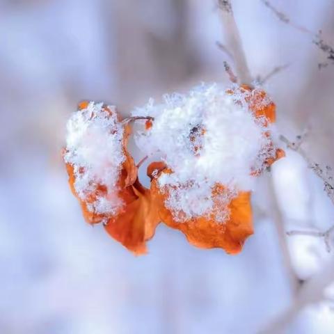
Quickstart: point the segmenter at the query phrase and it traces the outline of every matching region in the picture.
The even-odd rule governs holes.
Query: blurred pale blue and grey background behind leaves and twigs
[[[310,35],[260,0],[232,3],[253,76],[289,65],[264,86],[278,132],[294,139],[310,127],[303,147],[334,167],[334,65],[319,70],[326,54]],[[333,1],[272,3],[334,45]],[[233,63],[216,46],[224,39],[213,0],[0,0],[1,334],[257,333],[287,308],[266,176],[241,254],[199,250],[159,225],[149,254],[134,257],[84,223],[61,161],[65,122],[81,100],[116,104],[126,116],[150,97],[228,84],[223,61]],[[287,150],[273,179],[285,230],[333,225],[323,184],[298,154]],[[320,238],[285,239],[299,280],[333,256]],[[287,333],[334,333],[333,310],[328,292]]]

